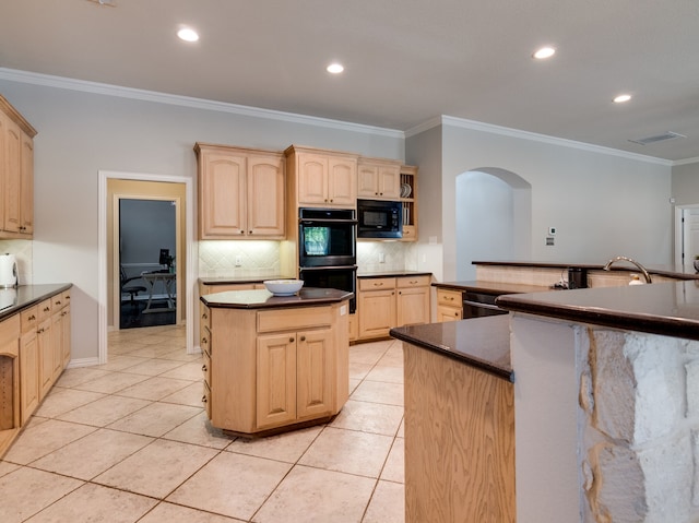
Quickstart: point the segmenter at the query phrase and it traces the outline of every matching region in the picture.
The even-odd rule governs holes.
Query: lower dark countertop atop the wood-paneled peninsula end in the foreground
[[[509,316],[391,329],[391,336],[514,381]]]

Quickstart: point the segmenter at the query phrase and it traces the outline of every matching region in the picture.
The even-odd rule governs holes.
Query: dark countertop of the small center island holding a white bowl
[[[274,296],[265,289],[227,290],[208,294],[201,301],[222,309],[270,309],[280,307],[310,307],[352,298],[352,293],[334,288],[304,287],[293,296]]]

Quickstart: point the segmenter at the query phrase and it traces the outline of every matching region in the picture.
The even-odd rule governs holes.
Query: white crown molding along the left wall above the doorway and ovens
[[[0,80],[9,80],[12,82],[21,82],[45,87],[64,88],[70,91],[81,91],[84,93],[99,94],[105,96],[118,96],[121,98],[138,99],[142,102],[153,102],[157,104],[169,104],[181,107],[190,107],[193,109],[214,110],[218,112],[229,112],[234,115],[247,116],[252,118],[264,118],[268,120],[286,121],[291,123],[300,123],[306,126],[324,127],[341,131],[360,132],[363,134],[376,134],[386,138],[403,139],[403,131],[395,129],[386,129],[374,126],[365,126],[362,123],[353,123],[341,120],[331,120],[329,118],[319,118],[306,115],[297,115],[294,112],[284,112],[272,109],[262,109],[259,107],[250,107],[237,104],[228,104],[225,102],[214,102],[203,98],[194,98],[191,96],[173,95],[159,93],[156,91],[145,91],[132,87],[123,87],[119,85],[105,84],[99,82],[90,82],[86,80],[75,80],[63,76],[54,76],[50,74],[34,73],[29,71],[21,71],[16,69],[0,68]]]

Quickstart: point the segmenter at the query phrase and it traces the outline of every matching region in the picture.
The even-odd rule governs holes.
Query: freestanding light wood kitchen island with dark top
[[[202,400],[212,425],[260,437],[336,415],[348,396],[351,297],[328,288],[202,296]]]

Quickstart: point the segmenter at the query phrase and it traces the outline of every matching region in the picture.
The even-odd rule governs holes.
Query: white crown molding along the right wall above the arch
[[[558,145],[562,147],[589,151],[591,153],[596,153],[596,154],[606,154],[608,156],[619,156],[623,158],[633,159],[637,162],[645,162],[649,164],[664,165],[668,167],[673,165],[677,165],[677,162],[673,162],[670,159],[656,158],[653,156],[645,156],[643,154],[637,154],[637,153],[628,153],[626,151],[620,151],[617,148],[603,147],[601,145],[592,145],[590,143],[576,142],[574,140],[549,136],[547,134],[538,134],[536,132],[530,132],[530,131],[521,131],[519,129],[494,126],[491,123],[484,123],[482,121],[475,121],[475,120],[466,120],[464,118],[457,118],[453,116],[446,116],[446,115],[441,115],[439,117],[433,118],[430,120],[427,120],[424,123],[420,123],[419,126],[408,129],[407,131],[405,131],[405,136],[406,138],[413,136],[415,134],[425,132],[438,126],[459,127],[459,128],[469,129],[472,131],[487,132],[490,134],[499,134],[502,136],[517,138],[520,140],[529,140],[531,142],[547,143],[549,145]],[[692,163],[692,162],[689,161],[688,163]]]

